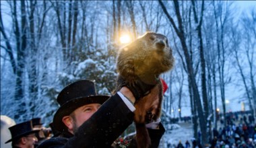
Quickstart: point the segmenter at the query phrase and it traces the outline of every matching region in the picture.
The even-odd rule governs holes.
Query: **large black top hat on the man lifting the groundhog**
[[[109,96],[97,95],[94,82],[90,80],[80,80],[67,85],[57,97],[60,107],[53,117],[53,126],[58,131],[64,131],[67,127],[62,122],[63,116],[68,116],[86,104],[103,104],[108,98]]]

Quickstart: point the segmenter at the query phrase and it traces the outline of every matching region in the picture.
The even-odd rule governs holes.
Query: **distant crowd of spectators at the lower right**
[[[177,148],[254,148],[256,147],[256,123],[251,112],[229,112],[226,115],[226,126],[223,116],[219,118],[220,128],[212,129],[212,139],[205,146],[200,143],[201,134],[198,133],[198,139],[192,138],[177,145],[168,145],[168,147]]]

